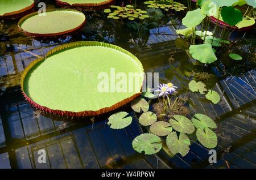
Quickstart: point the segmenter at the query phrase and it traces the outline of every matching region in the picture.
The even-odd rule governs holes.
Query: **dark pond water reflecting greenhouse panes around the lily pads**
[[[47,8],[58,8],[54,1],[43,2]],[[187,1],[181,2],[187,6]],[[136,5],[146,9],[143,1]],[[149,11],[151,18],[143,22],[111,20],[102,10],[84,12],[87,23],[76,35],[40,40],[20,32],[18,20],[2,20],[0,168],[256,168],[255,28],[248,33],[230,32],[230,46],[218,49],[220,59],[204,66],[189,57],[188,42],[175,32],[183,28],[185,12]],[[134,117],[123,130],[106,125],[110,114],[71,119],[32,109],[20,93],[24,68],[57,45],[81,40],[108,42],[128,50],[146,72],[159,72],[161,83],[174,83],[178,93],[189,98],[188,114],[203,113],[216,119],[217,164],[209,165],[208,149],[195,137],[191,137],[191,151],[185,157],[170,157],[164,150],[151,156],[135,152],[131,142],[146,130],[139,126],[130,105],[121,108]],[[231,61],[231,50],[242,55],[243,61]],[[221,101],[213,105],[190,93],[188,83],[193,77],[220,93]],[[46,164],[38,163],[38,149],[47,152]]]

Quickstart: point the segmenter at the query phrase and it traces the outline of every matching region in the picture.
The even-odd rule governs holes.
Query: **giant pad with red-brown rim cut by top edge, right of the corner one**
[[[59,6],[78,6],[90,8],[105,8],[114,2],[114,0],[55,0]]]

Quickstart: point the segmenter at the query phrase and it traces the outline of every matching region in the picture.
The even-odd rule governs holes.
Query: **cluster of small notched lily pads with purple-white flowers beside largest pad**
[[[202,93],[207,91],[203,83],[193,83],[196,82],[190,83],[190,85],[195,86],[193,88],[191,87],[191,91]],[[168,89],[167,84],[165,84],[159,86],[158,92],[160,92],[159,96],[161,95],[163,98],[167,98],[168,95],[175,92],[175,87],[172,84],[171,89]],[[159,97],[151,91],[143,93],[142,96],[148,99]],[[207,98],[216,104],[216,97],[212,98],[212,96],[215,96],[214,91],[209,91]],[[160,149],[167,147],[167,151],[171,155],[180,153],[181,156],[185,156],[189,152],[189,145],[191,145],[188,136],[192,135],[193,132],[195,132],[197,140],[204,147],[211,149],[217,146],[217,135],[212,130],[217,126],[207,115],[195,114],[192,119],[188,119],[184,115],[172,115],[166,121],[160,121],[155,113],[148,111],[149,104],[143,97],[136,98],[132,101],[131,108],[136,114],[139,113],[138,122],[148,130],[148,133],[138,135],[132,142],[133,148],[139,153],[144,152],[146,155],[152,155],[158,153]],[[133,121],[133,117],[126,112],[118,112],[112,114],[108,120],[110,128],[119,129],[129,126]],[[166,151],[166,149],[164,150]]]

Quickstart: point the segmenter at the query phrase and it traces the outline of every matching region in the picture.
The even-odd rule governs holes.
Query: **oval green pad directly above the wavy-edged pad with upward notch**
[[[193,123],[184,115],[174,115],[173,118],[169,122],[176,131],[185,134],[191,134],[195,131]]]

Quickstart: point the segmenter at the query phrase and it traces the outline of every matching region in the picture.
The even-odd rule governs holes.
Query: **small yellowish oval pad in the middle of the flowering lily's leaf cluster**
[[[150,132],[158,136],[167,136],[172,131],[170,123],[157,121],[150,126]]]

